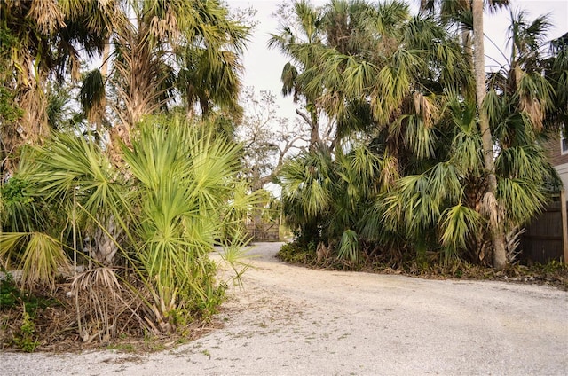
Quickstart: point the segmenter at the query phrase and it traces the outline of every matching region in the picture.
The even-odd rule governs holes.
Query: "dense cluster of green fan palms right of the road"
[[[546,20],[511,19],[508,65],[488,77],[480,107],[462,35],[404,3],[332,1],[316,10],[296,2],[282,22],[272,43],[297,67],[292,86],[283,74],[284,90],[308,98],[335,135],[283,168],[298,242],[350,262],[362,250],[395,262],[433,253],[437,262],[491,264],[489,224],[499,223],[512,261],[520,227],[559,186],[543,145],[565,108],[553,101],[560,80],[544,67],[564,58],[543,54]],[[485,194],[479,111],[493,135],[496,200]]]

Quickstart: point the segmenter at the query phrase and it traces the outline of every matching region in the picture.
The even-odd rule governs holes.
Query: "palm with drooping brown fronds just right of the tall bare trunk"
[[[492,124],[494,142],[499,146],[495,160],[497,199],[501,204],[504,194],[510,196],[509,188],[514,180],[517,202],[522,201],[525,205],[525,216],[515,208],[505,211],[503,223],[505,226],[508,222],[515,223],[514,228],[540,211],[548,200],[550,190],[547,187],[556,184],[556,173],[544,161],[540,145],[550,131],[557,131],[556,121],[562,117],[564,108],[562,101],[554,101],[554,87],[543,74],[550,59],[555,59],[545,59],[547,18],[540,16],[529,21],[525,12],[511,12],[510,22],[509,61],[499,71],[488,75],[489,90],[484,110]],[[540,168],[540,173],[533,171],[535,167]],[[525,175],[526,172],[530,175]],[[525,178],[538,186],[530,188],[531,192],[526,191],[528,182],[523,180]],[[525,191],[521,187],[525,187]],[[520,192],[528,197],[523,197]],[[537,192],[546,196],[546,200],[531,197]]]

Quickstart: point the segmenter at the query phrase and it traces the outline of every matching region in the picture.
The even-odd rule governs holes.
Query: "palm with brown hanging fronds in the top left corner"
[[[2,129],[3,159],[13,159],[20,145],[36,145],[49,135],[48,81],[55,77],[60,82],[66,75],[78,80],[79,51],[91,56],[103,50],[99,16],[110,12],[114,2],[92,4],[54,0],[0,4],[0,29],[12,41],[12,53],[3,56],[4,73],[10,72],[4,85],[21,109],[19,119]]]

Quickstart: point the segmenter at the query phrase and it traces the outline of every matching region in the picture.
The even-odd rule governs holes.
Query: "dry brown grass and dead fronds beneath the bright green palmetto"
[[[107,274],[106,272],[103,272]],[[101,273],[99,273],[101,274]],[[101,274],[102,275],[102,274]],[[75,281],[75,287],[81,281],[93,276],[83,276]],[[108,277],[108,276],[106,276]],[[104,279],[104,278],[103,278]],[[111,282],[112,279],[108,280]],[[71,284],[59,284],[53,294],[45,294],[36,299],[39,302],[33,308],[32,318],[36,327],[35,336],[38,339],[36,351],[45,352],[81,352],[90,349],[115,349],[122,352],[145,353],[171,349],[175,346],[193,341],[209,333],[212,328],[220,325],[216,322],[193,320],[184,327],[177,328],[176,333],[155,335],[141,329],[140,325],[132,325],[136,318],[129,309],[124,309],[124,299],[129,294],[124,290],[114,290],[116,298],[109,298],[108,286],[101,286],[101,278],[97,278],[98,294],[88,296],[83,290],[78,298],[79,314],[83,322],[83,334],[88,334],[91,341],[84,341],[79,332],[77,322],[77,303],[72,292]],[[92,289],[91,286],[86,286]],[[120,297],[119,297],[120,295]],[[96,300],[95,300],[96,299]],[[121,300],[123,302],[121,302]],[[99,306],[97,305],[99,304]],[[107,326],[112,336],[105,337],[105,328],[101,326],[100,314],[106,308],[109,313]],[[99,320],[99,324],[95,322]],[[22,309],[17,304],[10,309],[0,310],[0,349],[3,351],[21,351],[14,338],[20,333],[22,325]],[[110,327],[112,325],[112,327]],[[90,332],[87,332],[87,329]],[[92,341],[102,338],[103,341]]]

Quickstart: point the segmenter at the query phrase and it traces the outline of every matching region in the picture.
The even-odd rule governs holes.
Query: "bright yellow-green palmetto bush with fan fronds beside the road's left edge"
[[[75,275],[73,289],[83,339],[115,335],[117,315],[137,320],[139,333],[145,328],[164,333],[215,311],[225,287],[216,280],[217,263],[209,252],[239,224],[234,213],[246,213],[251,205],[240,194],[239,153],[238,145],[213,137],[207,124],[153,118],[123,147],[120,169],[91,137],[77,132],[57,134],[22,159],[18,176],[33,187],[28,201],[59,214],[60,223],[38,221],[18,230],[22,221],[12,221],[10,229],[50,244],[36,247],[35,254],[46,257],[43,250],[57,245],[64,258],[50,256],[59,263],[46,264],[45,282],[53,286],[53,276],[81,251],[78,245],[88,245],[79,254],[87,270]],[[32,231],[51,236],[37,238]],[[231,232],[233,238],[240,233]],[[3,234],[0,256],[26,268],[24,259],[33,255],[17,236]],[[235,261],[235,255],[224,260]],[[38,280],[28,276],[24,272],[23,286],[33,289]],[[108,295],[113,304],[101,305],[106,294],[101,289],[113,292]]]

